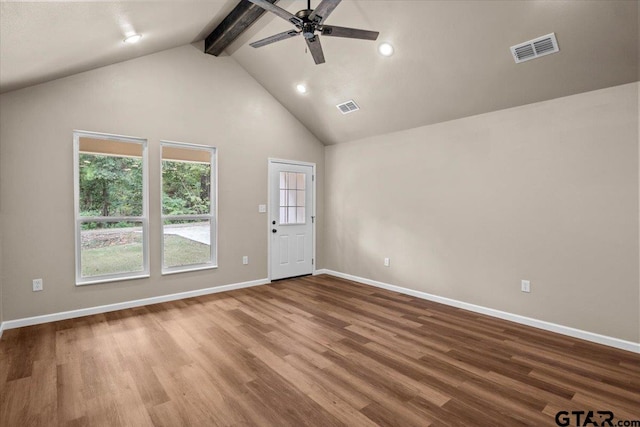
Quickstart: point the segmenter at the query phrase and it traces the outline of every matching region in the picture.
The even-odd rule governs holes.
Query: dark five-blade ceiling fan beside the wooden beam
[[[267,0],[249,0],[251,3],[261,8],[275,13],[280,18],[285,19],[295,25],[295,30],[284,31],[273,36],[258,40],[250,44],[252,47],[262,47],[271,43],[285,40],[302,34],[309,46],[309,51],[316,64],[324,63],[324,53],[318,36],[346,37],[351,39],[376,40],[377,31],[358,30],[356,28],[336,27],[324,25],[324,21],[331,15],[331,12],[340,4],[342,0],[322,0],[318,7],[311,9],[311,0],[307,0],[307,8],[299,11],[295,15],[274,5]]]

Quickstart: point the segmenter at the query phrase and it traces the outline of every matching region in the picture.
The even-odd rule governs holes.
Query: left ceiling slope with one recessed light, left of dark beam
[[[0,1],[0,92],[202,40],[237,0]],[[141,33],[135,45],[122,43]]]

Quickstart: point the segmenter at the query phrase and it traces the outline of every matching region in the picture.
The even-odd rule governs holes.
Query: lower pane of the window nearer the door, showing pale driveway
[[[164,267],[211,262],[211,223],[208,220],[166,220]]]

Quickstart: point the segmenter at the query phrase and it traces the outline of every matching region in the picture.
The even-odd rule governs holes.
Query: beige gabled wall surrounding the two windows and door
[[[317,163],[323,199],[322,144],[235,60],[201,46],[6,93],[0,111],[5,321],[266,278],[267,218],[258,204],[267,203],[268,157]],[[150,279],[75,286],[74,129],[149,140]],[[161,139],[218,147],[217,270],[160,275]],[[44,291],[34,293],[39,277]]]

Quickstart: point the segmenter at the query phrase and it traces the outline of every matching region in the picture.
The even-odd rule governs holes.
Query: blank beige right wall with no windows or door
[[[639,342],[638,150],[637,83],[327,147],[325,267]]]

